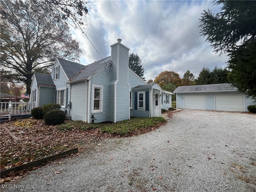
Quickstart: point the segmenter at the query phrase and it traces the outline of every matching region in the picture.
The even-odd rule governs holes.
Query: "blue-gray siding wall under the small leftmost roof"
[[[48,103],[54,103],[55,87],[40,87],[39,106],[43,106]]]

